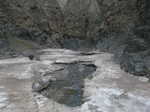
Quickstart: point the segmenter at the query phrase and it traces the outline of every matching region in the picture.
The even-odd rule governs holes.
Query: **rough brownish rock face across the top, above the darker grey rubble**
[[[59,32],[86,40],[97,38],[100,30],[118,32],[134,27],[136,4],[137,0],[6,0],[1,3],[1,15],[9,21],[1,21],[22,29],[18,36],[23,39],[36,40],[39,32],[38,40],[44,41],[50,36],[46,32]]]

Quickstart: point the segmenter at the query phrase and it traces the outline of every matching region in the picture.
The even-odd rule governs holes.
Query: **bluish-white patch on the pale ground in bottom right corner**
[[[149,112],[150,99],[116,88],[99,88],[82,105],[81,112]]]

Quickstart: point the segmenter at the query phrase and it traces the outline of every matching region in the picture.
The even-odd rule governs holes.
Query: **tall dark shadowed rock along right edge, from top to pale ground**
[[[139,2],[143,8],[140,16],[141,23],[135,28],[134,38],[130,38],[122,55],[121,66],[128,72],[150,77],[150,3],[148,0]]]

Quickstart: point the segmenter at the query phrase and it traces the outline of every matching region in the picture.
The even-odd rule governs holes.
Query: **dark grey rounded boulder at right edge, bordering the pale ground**
[[[148,76],[150,74],[149,71],[149,54],[150,51],[143,51],[143,52],[136,52],[136,53],[130,53],[126,52],[122,55],[121,59],[121,67],[132,74],[138,75],[138,76]]]

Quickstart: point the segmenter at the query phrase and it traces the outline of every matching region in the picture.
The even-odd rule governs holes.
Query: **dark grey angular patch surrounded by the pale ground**
[[[40,81],[34,82],[33,90],[58,103],[71,107],[80,106],[84,102],[84,79],[92,76],[96,66],[80,62],[57,65],[63,66],[64,69],[49,74],[53,76],[53,80],[48,80],[48,75],[41,77]]]

